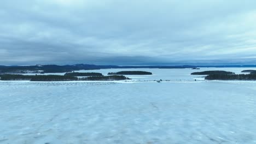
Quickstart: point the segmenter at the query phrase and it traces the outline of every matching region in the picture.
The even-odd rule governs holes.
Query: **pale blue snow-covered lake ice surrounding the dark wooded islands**
[[[0,81],[0,143],[256,143],[256,82],[189,75],[212,69],[132,76],[172,80],[161,83]]]

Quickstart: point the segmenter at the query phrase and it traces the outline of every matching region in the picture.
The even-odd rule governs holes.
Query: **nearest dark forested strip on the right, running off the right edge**
[[[205,77],[205,80],[256,80],[256,74],[219,75],[213,74]]]

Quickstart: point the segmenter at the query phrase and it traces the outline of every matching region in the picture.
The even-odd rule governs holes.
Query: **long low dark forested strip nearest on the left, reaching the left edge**
[[[114,80],[130,80],[129,77],[123,75],[112,76],[89,76],[89,77],[75,77],[69,75],[0,75],[2,81],[114,81]]]

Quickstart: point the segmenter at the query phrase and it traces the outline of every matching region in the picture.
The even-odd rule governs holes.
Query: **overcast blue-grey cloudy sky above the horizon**
[[[0,65],[256,64],[255,5],[1,0]]]

